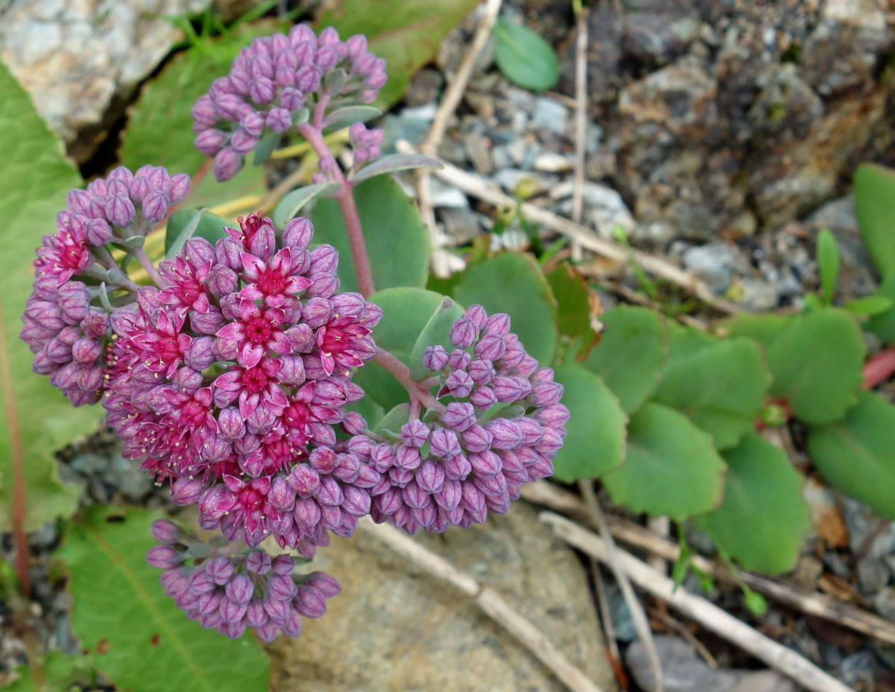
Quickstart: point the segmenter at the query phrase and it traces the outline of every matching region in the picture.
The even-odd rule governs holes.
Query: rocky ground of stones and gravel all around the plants
[[[128,0],[107,13],[101,3],[79,9],[45,3],[34,13],[26,0],[0,0],[0,56],[31,90],[72,157],[85,170],[103,170],[114,147],[99,133],[114,130],[141,80],[176,39],[170,24],[147,17],[202,4]],[[226,4],[227,11],[238,13],[236,4]],[[487,47],[439,156],[568,217],[575,186],[570,4],[507,0],[503,13],[527,21],[558,47],[558,90],[538,95],[513,86],[494,69],[493,47]],[[384,150],[398,140],[419,144],[425,138],[474,21],[473,15],[448,36],[434,63],[413,78],[405,101],[381,118]],[[123,26],[130,33],[122,33]],[[755,311],[802,305],[805,291],[817,287],[814,238],[829,227],[843,257],[840,298],[869,295],[878,278],[860,243],[848,181],[860,161],[891,162],[891,27],[882,0],[593,4],[583,223],[606,237],[620,226],[636,248],[691,269],[717,295]],[[66,76],[71,74],[79,78]],[[494,224],[492,209],[437,180],[433,203],[456,248],[488,234]],[[512,230],[491,241],[526,242]],[[585,256],[582,266],[606,287],[605,304],[620,299],[613,286],[640,287],[633,274],[612,263]],[[59,458],[63,478],[84,484],[85,502],[166,502],[166,491],[120,457],[105,431]],[[789,578],[895,619],[895,527],[819,484],[807,499],[816,530]],[[687,538],[712,554],[700,534]],[[43,648],[71,652],[77,643],[68,628],[64,582],[49,563],[58,540],[51,525],[30,536],[36,603],[30,624]],[[593,679],[613,688],[588,566],[550,538],[531,507],[520,503],[507,517],[475,530],[422,540],[506,595]],[[4,536],[0,556],[8,558],[10,551]],[[314,688],[328,690],[453,690],[468,688],[460,681],[469,679],[477,681],[473,689],[559,689],[473,605],[388,549],[358,537],[334,542],[320,560],[345,592],[326,619],[309,623],[299,645],[270,648],[275,689],[292,689],[309,676]],[[763,618],[755,618],[736,591],[716,589],[708,597],[850,687],[895,689],[895,647],[773,602]],[[629,675],[647,688],[642,647],[611,585],[609,602]],[[25,649],[8,614],[0,608],[0,671],[20,662]],[[794,689],[785,679],[752,670],[757,662],[720,639],[694,631],[720,667],[703,662],[677,633],[662,634],[657,644],[663,668],[672,672],[669,692]],[[438,665],[420,666],[422,656]]]

